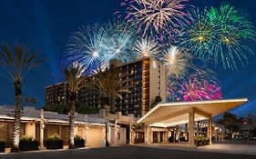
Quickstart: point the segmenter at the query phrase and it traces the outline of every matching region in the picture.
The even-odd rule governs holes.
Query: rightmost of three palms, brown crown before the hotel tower
[[[92,88],[103,99],[104,108],[106,111],[106,146],[108,143],[108,114],[109,108],[111,112],[115,111],[113,99],[115,97],[122,98],[122,93],[130,93],[128,87],[123,86],[127,80],[122,79],[118,68],[97,70],[95,75],[92,75],[87,80],[87,87]],[[112,103],[112,104],[110,104]],[[110,106],[109,106],[110,105]]]

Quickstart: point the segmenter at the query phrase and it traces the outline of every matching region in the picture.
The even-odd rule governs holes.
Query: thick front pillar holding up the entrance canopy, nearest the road
[[[195,113],[191,109],[189,112],[189,147],[195,147]]]

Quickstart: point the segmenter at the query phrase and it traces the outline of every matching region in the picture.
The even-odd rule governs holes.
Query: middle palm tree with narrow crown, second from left
[[[77,91],[83,86],[83,73],[85,69],[78,63],[73,64],[72,67],[65,68],[64,74],[67,80],[67,89],[70,92],[70,113],[69,113],[69,148],[75,148],[74,141],[74,121],[76,112],[76,96]]]

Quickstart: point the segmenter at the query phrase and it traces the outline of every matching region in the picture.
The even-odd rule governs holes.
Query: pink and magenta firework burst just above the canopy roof
[[[199,69],[179,80],[169,82],[168,97],[171,101],[199,101],[221,99],[222,94],[210,69]]]

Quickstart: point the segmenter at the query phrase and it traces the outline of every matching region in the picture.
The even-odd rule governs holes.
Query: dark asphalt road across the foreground
[[[143,146],[118,146],[46,152],[0,154],[0,159],[256,159],[256,155],[219,154],[156,149]]]

